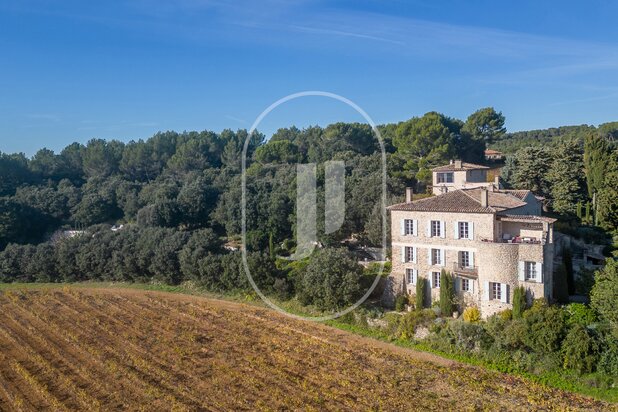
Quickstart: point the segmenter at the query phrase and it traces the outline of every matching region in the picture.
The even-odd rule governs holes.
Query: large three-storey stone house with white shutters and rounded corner
[[[454,173],[470,170],[464,168]],[[443,171],[434,169],[434,181]],[[511,308],[517,286],[526,288],[529,299],[551,299],[555,219],[541,216],[541,203],[528,190],[461,183],[416,201],[407,189],[406,202],[388,208],[392,272],[387,298],[415,294],[418,278],[424,277],[427,295],[437,300],[445,269],[455,277],[459,301],[478,306],[483,317]]]

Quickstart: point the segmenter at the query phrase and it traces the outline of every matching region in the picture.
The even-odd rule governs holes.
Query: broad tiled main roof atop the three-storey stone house
[[[518,197],[503,191],[489,191],[488,206],[481,206],[481,189],[463,189],[443,195],[427,197],[410,203],[389,206],[389,210],[410,210],[418,212],[454,213],[496,213],[525,206]]]

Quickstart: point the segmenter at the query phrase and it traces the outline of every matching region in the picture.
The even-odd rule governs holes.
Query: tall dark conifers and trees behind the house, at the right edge
[[[564,218],[614,232],[618,229],[618,140],[614,136],[618,136],[618,123],[608,123],[581,139],[524,147],[507,156],[501,176],[510,187],[544,197],[549,209]]]

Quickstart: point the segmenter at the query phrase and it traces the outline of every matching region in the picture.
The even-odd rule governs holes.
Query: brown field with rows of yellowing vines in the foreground
[[[0,292],[0,410],[610,410],[276,312],[126,289]]]

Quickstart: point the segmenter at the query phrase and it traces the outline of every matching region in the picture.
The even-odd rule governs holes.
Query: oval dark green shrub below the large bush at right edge
[[[563,367],[578,373],[592,372],[598,359],[599,346],[588,330],[575,324],[562,342]]]

